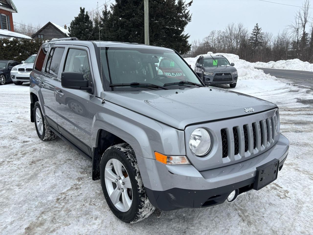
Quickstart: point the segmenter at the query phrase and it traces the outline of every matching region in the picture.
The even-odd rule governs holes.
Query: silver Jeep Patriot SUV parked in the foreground
[[[183,78],[158,74],[164,58]],[[275,104],[205,86],[171,49],[53,40],[30,80],[38,137],[90,160],[124,222],[233,201],[273,182],[288,154]]]

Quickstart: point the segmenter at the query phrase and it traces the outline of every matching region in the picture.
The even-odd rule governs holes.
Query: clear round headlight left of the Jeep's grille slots
[[[211,136],[207,130],[203,128],[195,129],[189,139],[189,147],[197,156],[204,156],[211,149]]]

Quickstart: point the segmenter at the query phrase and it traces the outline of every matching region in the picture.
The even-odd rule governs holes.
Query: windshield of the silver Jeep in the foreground
[[[107,60],[108,59],[108,63]],[[150,83],[157,86],[164,86],[168,83],[179,83],[190,81],[202,86],[198,77],[190,67],[175,52],[158,49],[142,48],[101,48],[102,64],[109,65],[110,74],[103,72],[110,84]],[[104,66],[103,66],[104,68]],[[195,87],[196,85],[180,84],[167,85],[169,89],[177,89],[182,86]],[[114,90],[138,90],[134,87],[114,87]],[[149,88],[140,88],[149,89]],[[156,89],[151,88],[150,89]]]

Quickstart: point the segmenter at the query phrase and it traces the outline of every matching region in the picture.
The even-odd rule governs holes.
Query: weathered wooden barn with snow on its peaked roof
[[[39,29],[36,33],[32,34],[32,38],[41,38],[44,40],[51,40],[54,38],[67,38],[69,37],[69,30],[67,26],[59,26],[57,24],[48,22],[44,27]]]

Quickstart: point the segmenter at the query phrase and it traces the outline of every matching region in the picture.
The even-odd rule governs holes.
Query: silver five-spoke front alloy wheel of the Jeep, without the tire
[[[129,175],[123,164],[110,159],[105,165],[105,187],[114,206],[121,212],[127,212],[132,204],[132,188]]]

